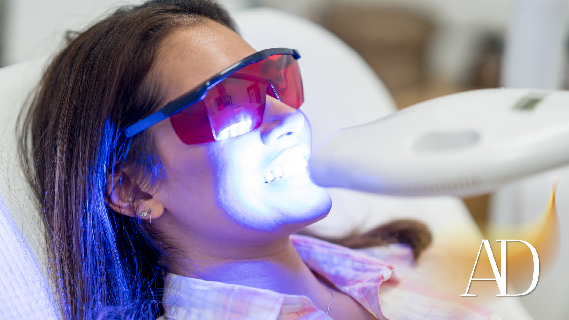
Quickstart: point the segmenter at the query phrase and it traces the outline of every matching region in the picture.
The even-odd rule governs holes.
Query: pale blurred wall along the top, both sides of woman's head
[[[80,30],[112,7],[136,0],[0,0],[0,65],[50,55],[66,30]],[[504,34],[514,0],[222,0],[230,9],[262,5],[323,23],[331,5],[389,5],[422,11],[436,28],[428,51],[432,75],[453,83],[467,81],[485,34]],[[569,6],[568,6],[569,7]],[[0,9],[1,10],[1,9]]]

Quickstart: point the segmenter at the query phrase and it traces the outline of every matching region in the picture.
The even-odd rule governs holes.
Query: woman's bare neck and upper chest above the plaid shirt
[[[376,319],[352,297],[319,281],[300,259],[288,236],[262,245],[217,243],[211,239],[179,243],[191,244],[191,248],[178,246],[179,252],[187,258],[170,259],[172,273],[306,296],[324,311],[328,310],[334,295],[332,318]]]

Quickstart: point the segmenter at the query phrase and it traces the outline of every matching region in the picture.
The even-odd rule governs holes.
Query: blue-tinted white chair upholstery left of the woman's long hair
[[[0,69],[0,318],[58,319],[46,278],[40,216],[16,157],[15,124],[44,61]]]

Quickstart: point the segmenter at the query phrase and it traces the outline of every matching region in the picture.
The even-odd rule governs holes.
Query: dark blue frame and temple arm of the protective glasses
[[[135,122],[133,125],[128,126],[125,129],[126,137],[130,138],[137,133],[143,132],[158,122],[173,116],[174,114],[184,110],[185,108],[188,108],[200,100],[203,100],[205,98],[205,95],[207,95],[209,89],[215,87],[216,84],[225,80],[227,77],[241,70],[247,65],[265,60],[272,55],[292,55],[292,57],[296,60],[300,58],[298,51],[289,48],[271,48],[255,52],[247,58],[233,64],[224,71],[217,73],[217,75],[211,77],[204,83],[197,86],[195,89],[192,89],[191,91],[184,93],[184,95],[180,96],[179,98],[168,102],[164,108],[150,114],[150,116],[142,118],[141,120]]]

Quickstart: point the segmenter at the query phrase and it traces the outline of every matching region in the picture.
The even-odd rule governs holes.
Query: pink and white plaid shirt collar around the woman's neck
[[[384,261],[313,237],[291,235],[308,267],[380,315],[378,290],[392,276]],[[170,319],[330,319],[305,296],[168,274],[164,310]],[[303,318],[305,319],[305,318]]]

